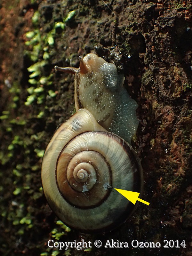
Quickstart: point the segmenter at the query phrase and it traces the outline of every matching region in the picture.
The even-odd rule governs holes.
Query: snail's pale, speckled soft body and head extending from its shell
[[[137,103],[124,89],[124,76],[117,75],[114,64],[94,53],[79,57],[79,68],[56,70],[75,74],[75,107],[89,110],[107,131],[119,135],[131,144],[139,120]]]

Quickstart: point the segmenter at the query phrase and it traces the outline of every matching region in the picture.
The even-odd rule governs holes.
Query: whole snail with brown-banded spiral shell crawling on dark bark
[[[123,87],[116,66],[96,54],[79,57],[75,108],[54,133],[42,162],[42,184],[53,212],[83,233],[110,231],[135,205],[114,188],[142,192],[140,160],[130,146],[137,130],[136,102]]]

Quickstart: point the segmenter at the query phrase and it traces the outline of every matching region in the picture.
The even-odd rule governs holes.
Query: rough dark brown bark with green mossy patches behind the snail
[[[0,8],[2,255],[192,255],[191,2],[7,1]],[[100,235],[62,226],[40,177],[46,144],[74,113],[74,77],[53,67],[78,67],[78,56],[89,52],[124,73],[124,86],[138,103],[132,145],[143,166],[142,198],[150,202]],[[49,248],[49,239],[100,239],[103,246],[65,252]],[[129,248],[105,248],[108,239]],[[134,239],[161,247],[133,248]],[[180,247],[164,248],[164,240],[178,240]]]

